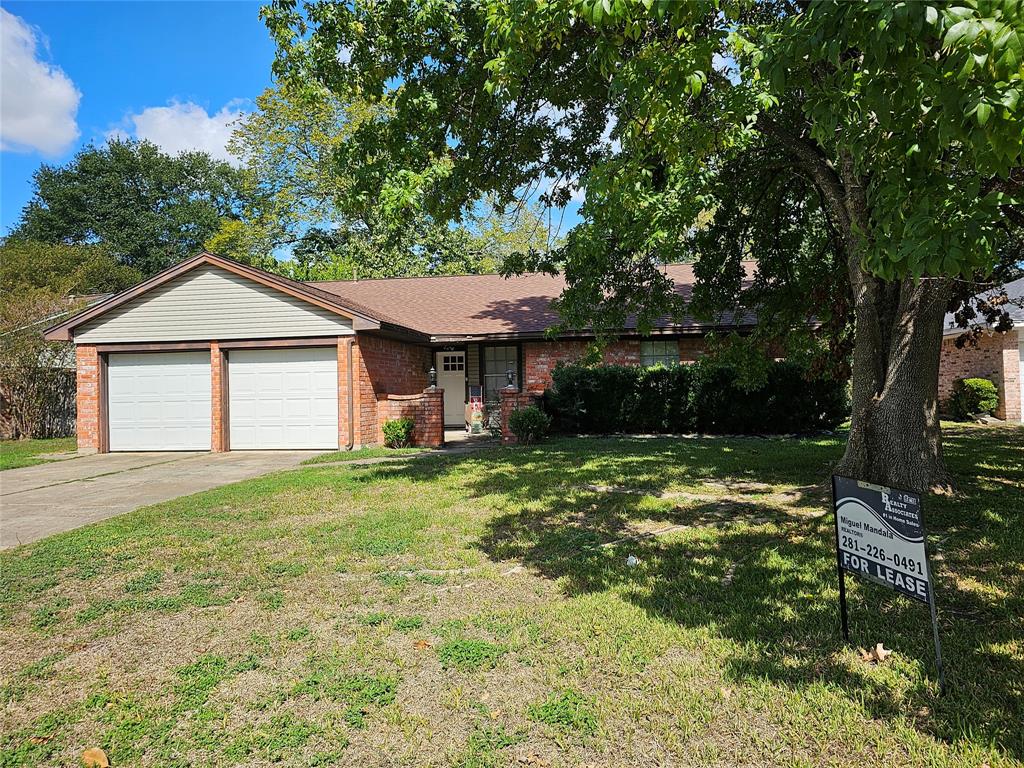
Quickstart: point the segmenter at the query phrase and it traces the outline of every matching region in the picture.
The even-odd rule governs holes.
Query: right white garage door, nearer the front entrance
[[[338,349],[227,353],[232,451],[338,447]]]

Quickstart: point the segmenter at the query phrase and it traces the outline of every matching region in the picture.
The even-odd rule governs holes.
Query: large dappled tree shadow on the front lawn
[[[799,514],[827,509],[827,477],[841,453],[841,439],[559,440],[379,467],[372,476],[457,482],[469,497],[487,498],[504,510],[478,542],[488,557],[521,560],[568,596],[614,593],[652,616],[711,628],[734,641],[725,662],[734,680],[826,685],[871,718],[911,720],[936,738],[1024,758],[1024,430],[947,430],[962,495],[925,502],[950,684],[944,698],[935,695],[924,605],[871,585],[851,589],[853,643],[884,642],[919,659],[909,688],[841,653],[831,517]],[[729,480],[729,500],[674,504],[586,487],[659,494],[708,480]],[[795,486],[785,502],[794,514],[758,492],[737,499],[728,490],[755,483]],[[723,516],[752,524],[722,524]],[[712,524],[715,532],[623,541],[640,522]],[[637,567],[626,566],[629,554]]]

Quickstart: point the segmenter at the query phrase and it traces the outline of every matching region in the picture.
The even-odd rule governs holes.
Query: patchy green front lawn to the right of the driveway
[[[0,765],[1021,765],[1024,430],[946,451],[945,698],[926,606],[855,583],[855,644],[895,652],[840,638],[841,437],[560,440],[310,466],[3,553]]]

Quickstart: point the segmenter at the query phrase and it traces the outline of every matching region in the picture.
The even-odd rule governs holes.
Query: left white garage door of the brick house
[[[111,451],[209,451],[210,353],[112,354]]]

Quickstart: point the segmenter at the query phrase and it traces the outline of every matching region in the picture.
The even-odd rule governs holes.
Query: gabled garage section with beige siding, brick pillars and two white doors
[[[316,450],[350,441],[338,352],[379,329],[337,296],[204,253],[46,338],[76,345],[80,447]]]

